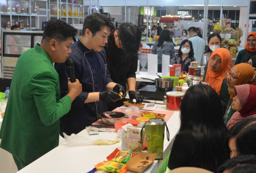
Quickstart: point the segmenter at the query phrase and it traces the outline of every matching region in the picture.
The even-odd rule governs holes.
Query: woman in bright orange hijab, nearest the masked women
[[[227,90],[227,70],[231,69],[229,64],[231,64],[230,52],[225,48],[218,48],[210,56],[205,76],[205,82],[209,83],[220,97],[223,114],[229,100]]]

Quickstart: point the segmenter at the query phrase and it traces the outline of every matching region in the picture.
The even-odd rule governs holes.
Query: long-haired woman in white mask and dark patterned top
[[[190,62],[196,61],[194,58],[194,50],[192,42],[188,39],[184,39],[180,44],[180,49],[177,55],[170,61],[170,64],[181,64],[181,72],[188,72],[188,66]]]

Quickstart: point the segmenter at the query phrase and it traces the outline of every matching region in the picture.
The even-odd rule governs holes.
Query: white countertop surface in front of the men
[[[165,105],[159,105],[158,110],[165,110]],[[172,139],[178,132],[180,126],[179,112],[174,112],[172,117],[167,122],[169,128],[170,140],[167,141],[166,133],[164,139],[164,158],[172,147]],[[99,135],[89,136],[87,129],[79,133],[80,136],[86,136],[90,139],[116,139],[117,133],[101,132]],[[40,157],[33,163],[29,164],[19,173],[34,173],[34,172],[88,172],[94,168],[99,162],[106,160],[115,148],[121,149],[121,142],[114,145],[99,145],[99,146],[81,146],[70,147],[65,143],[51,150],[49,153]],[[156,172],[161,166],[163,160],[154,161],[153,164],[146,169],[145,172]]]

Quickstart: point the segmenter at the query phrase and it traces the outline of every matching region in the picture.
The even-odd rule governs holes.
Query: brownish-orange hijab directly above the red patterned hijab
[[[241,85],[241,84],[256,85],[256,74],[253,68],[250,66],[250,64],[239,63],[233,67],[236,67],[238,69],[238,80],[236,85]],[[234,97],[234,89],[228,87],[228,93],[230,95],[230,98],[232,99]]]

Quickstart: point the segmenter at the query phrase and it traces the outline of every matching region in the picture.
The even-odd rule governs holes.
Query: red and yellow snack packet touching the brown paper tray
[[[119,150],[118,148],[116,148],[113,153],[111,153],[108,157],[106,157],[106,159],[113,162],[126,163],[136,155],[137,155],[136,152],[129,152],[124,150]]]

